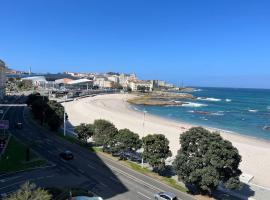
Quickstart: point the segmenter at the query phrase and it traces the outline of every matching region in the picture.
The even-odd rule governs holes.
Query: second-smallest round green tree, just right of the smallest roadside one
[[[109,121],[99,119],[94,121],[94,141],[102,145],[103,151],[107,150],[118,133],[117,128]]]

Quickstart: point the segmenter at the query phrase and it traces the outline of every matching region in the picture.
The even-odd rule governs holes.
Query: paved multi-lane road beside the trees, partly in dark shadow
[[[53,133],[42,129],[35,123],[25,120],[24,107],[11,107],[5,116],[11,124],[24,122],[23,130],[12,129],[11,132],[19,139],[29,143],[41,156],[46,158],[51,166],[15,174],[0,175],[0,194],[11,192],[26,180],[31,180],[39,186],[83,186],[104,199],[137,200],[154,199],[159,191],[170,191],[179,199],[194,199],[185,193],[170,188],[152,178],[137,173],[103,156],[71,144]],[[27,114],[26,114],[27,115]],[[59,159],[59,153],[71,150],[75,159],[64,162]]]

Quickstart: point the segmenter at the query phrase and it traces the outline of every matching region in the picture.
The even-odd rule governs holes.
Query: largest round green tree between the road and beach
[[[220,183],[228,189],[240,186],[241,156],[219,133],[194,127],[180,136],[180,144],[173,165],[178,178],[185,184],[210,195]]]

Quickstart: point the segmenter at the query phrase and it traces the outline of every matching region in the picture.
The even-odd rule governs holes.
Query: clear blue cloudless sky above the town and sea
[[[270,1],[1,0],[0,59],[34,72],[270,88]]]

